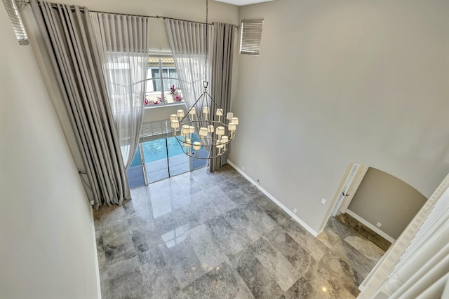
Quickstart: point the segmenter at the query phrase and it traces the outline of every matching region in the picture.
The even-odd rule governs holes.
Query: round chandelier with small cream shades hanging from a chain
[[[206,36],[205,36],[205,71],[203,81],[203,94],[187,113],[177,110],[170,115],[170,124],[173,136],[180,144],[182,151],[189,157],[197,159],[213,159],[226,153],[228,144],[236,134],[239,118],[234,113],[227,112],[218,106],[208,93],[208,0],[206,0]],[[201,148],[208,151],[206,158],[198,155]]]

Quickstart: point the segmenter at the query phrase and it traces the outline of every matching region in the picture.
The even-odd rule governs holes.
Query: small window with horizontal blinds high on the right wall
[[[240,54],[259,55],[264,20],[241,22]]]

